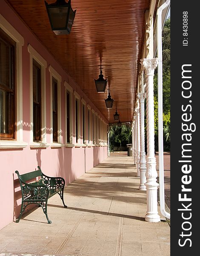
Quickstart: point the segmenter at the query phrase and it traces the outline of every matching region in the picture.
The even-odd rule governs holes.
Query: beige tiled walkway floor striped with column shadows
[[[66,186],[68,208],[59,195],[49,199],[52,224],[35,208],[1,230],[0,256],[169,256],[169,224],[144,221],[136,173],[132,157],[111,155]]]

